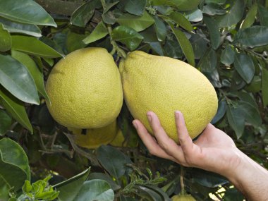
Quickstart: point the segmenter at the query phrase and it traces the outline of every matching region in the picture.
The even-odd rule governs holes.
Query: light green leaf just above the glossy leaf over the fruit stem
[[[154,18],[150,16],[146,11],[142,16],[135,16],[131,14],[124,14],[117,18],[117,22],[119,25],[127,26],[129,28],[133,28],[133,30],[140,32],[149,28],[150,25],[154,23]]]

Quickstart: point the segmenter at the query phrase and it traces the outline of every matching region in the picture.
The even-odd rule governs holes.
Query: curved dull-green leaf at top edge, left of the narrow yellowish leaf
[[[233,1],[231,9],[224,16],[219,16],[217,18],[219,22],[219,28],[231,28],[233,25],[236,25],[241,20],[241,18],[243,18],[244,10],[245,1]]]

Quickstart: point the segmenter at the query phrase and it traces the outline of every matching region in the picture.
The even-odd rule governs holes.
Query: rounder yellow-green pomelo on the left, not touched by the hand
[[[123,104],[120,73],[104,48],[78,49],[61,59],[49,74],[46,90],[49,112],[71,128],[107,126]]]

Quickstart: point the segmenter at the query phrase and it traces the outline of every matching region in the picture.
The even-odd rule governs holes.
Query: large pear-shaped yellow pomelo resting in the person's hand
[[[200,134],[217,112],[214,87],[188,63],[133,51],[120,63],[119,71],[128,109],[150,133],[147,111],[157,114],[166,133],[176,142],[174,111],[183,113],[191,138]]]

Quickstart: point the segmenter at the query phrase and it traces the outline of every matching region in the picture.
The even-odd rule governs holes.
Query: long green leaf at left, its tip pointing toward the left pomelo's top
[[[61,57],[58,51],[52,49],[44,42],[41,42],[35,37],[28,37],[22,35],[13,35],[12,36],[12,48],[18,51],[24,51],[27,54],[32,54],[35,56],[42,57]]]

